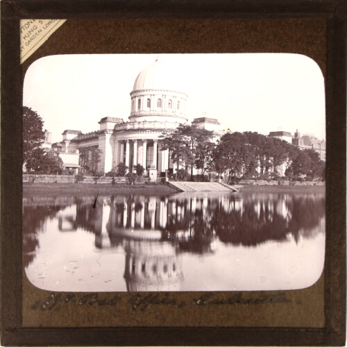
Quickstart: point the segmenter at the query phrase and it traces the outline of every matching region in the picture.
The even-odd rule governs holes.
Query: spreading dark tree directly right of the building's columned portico
[[[213,137],[213,131],[198,128],[195,124],[192,126],[180,124],[173,133],[162,137],[164,137],[162,149],[171,151],[174,163],[185,165],[186,169],[190,167],[193,180],[193,167],[196,166],[198,159],[198,145],[209,142]],[[201,161],[199,163],[201,164]]]

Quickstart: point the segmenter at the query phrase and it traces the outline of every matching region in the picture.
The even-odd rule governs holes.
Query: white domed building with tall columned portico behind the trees
[[[182,83],[175,72],[158,56],[135,79],[130,92],[128,122],[117,117],[104,117],[99,121],[99,130],[93,133],[65,130],[62,142],[53,144],[52,148],[56,146],[65,156],[83,147],[99,148],[102,154],[98,171],[105,173],[115,169],[120,162],[126,164],[130,172],[135,165],[142,164],[151,180],[164,176],[165,171],[174,173],[176,165],[169,158],[169,151],[162,151],[161,136],[188,120],[188,95],[181,90]],[[196,121],[199,127],[218,130],[216,119],[203,117]],[[72,158],[68,160],[72,162]]]

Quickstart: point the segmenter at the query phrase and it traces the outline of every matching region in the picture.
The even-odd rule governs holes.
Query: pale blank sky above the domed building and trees
[[[128,121],[137,75],[158,54],[47,56],[24,78],[23,105],[37,112],[53,142],[64,130],[99,130],[103,117]],[[163,54],[175,89],[188,94],[187,118],[218,119],[221,129],[288,131],[325,139],[324,79],[307,56],[287,53]]]

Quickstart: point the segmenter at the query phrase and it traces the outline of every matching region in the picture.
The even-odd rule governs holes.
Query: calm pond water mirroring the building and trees
[[[24,263],[51,291],[300,289],[321,276],[325,194],[23,198]]]

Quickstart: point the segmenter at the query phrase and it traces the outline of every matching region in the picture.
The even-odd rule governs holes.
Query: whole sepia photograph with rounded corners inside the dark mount
[[[46,56],[23,90],[23,259],[47,291],[303,289],[325,86],[290,53]]]

